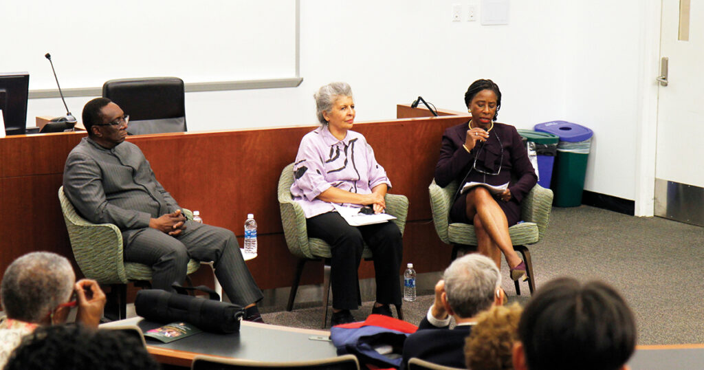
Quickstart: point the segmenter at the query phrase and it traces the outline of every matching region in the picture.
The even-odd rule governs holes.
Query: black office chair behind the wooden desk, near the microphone
[[[187,131],[186,96],[180,78],[109,80],[103,84],[103,97],[130,115],[130,135]]]

